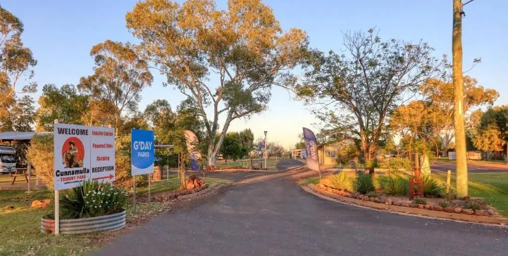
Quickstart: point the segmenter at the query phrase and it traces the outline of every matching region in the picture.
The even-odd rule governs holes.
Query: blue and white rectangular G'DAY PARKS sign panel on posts
[[[155,155],[153,131],[131,130],[131,174],[153,173]]]

